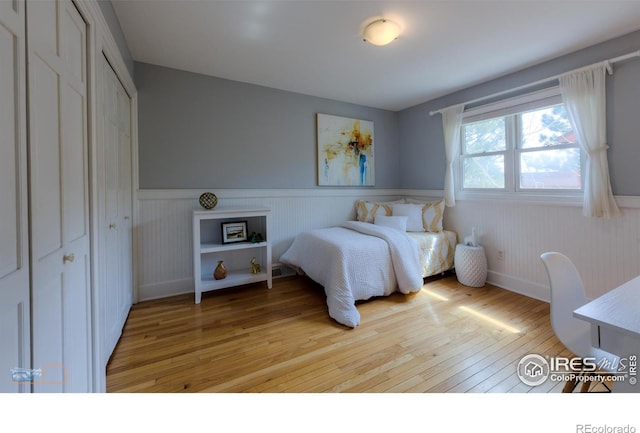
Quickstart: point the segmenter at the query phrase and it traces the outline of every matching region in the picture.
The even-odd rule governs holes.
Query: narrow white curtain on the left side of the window
[[[447,158],[447,170],[444,177],[444,202],[447,206],[456,205],[455,164],[460,156],[460,127],[464,104],[455,105],[441,111],[444,130],[444,148]]]

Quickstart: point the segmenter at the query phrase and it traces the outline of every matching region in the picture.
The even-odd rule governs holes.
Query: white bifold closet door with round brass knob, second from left
[[[86,24],[70,0],[27,3],[36,392],[91,391]]]

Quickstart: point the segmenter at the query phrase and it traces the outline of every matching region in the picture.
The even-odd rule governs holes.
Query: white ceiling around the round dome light
[[[394,111],[640,29],[638,0],[112,3],[134,60]]]

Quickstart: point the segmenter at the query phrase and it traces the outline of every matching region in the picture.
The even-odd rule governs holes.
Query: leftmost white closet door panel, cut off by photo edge
[[[0,393],[31,390],[24,20],[0,2]]]

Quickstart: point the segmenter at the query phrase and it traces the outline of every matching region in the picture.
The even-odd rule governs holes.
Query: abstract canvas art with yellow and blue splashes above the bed
[[[373,122],[318,113],[318,185],[373,186]]]

